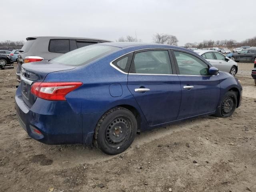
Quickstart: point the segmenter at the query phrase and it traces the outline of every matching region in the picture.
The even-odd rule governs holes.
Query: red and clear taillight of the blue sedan
[[[64,101],[66,94],[81,85],[82,82],[35,82],[30,92],[42,99]]]

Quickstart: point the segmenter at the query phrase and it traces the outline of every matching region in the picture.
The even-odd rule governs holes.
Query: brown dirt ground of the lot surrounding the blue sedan
[[[243,100],[231,118],[208,116],[142,132],[116,156],[28,137],[14,110],[16,70],[0,70],[0,191],[256,192],[253,64],[238,65]]]

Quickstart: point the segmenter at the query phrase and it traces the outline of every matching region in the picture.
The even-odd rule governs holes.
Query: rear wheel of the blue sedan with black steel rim
[[[94,146],[108,155],[124,152],[134,141],[137,121],[134,114],[123,107],[112,108],[98,121],[94,132]]]

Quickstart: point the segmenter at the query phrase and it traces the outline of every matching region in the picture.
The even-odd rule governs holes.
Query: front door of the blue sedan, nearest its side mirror
[[[214,112],[220,99],[218,75],[209,75],[208,64],[194,54],[172,53],[182,88],[178,120]]]

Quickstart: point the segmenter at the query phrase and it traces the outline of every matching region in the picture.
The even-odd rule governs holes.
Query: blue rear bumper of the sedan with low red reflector
[[[15,109],[20,125],[35,140],[45,144],[83,143],[82,115],[73,112],[66,101],[37,98],[29,108],[22,99],[20,86],[16,90]],[[42,134],[37,134],[34,129]],[[84,132],[87,136],[88,132]]]

